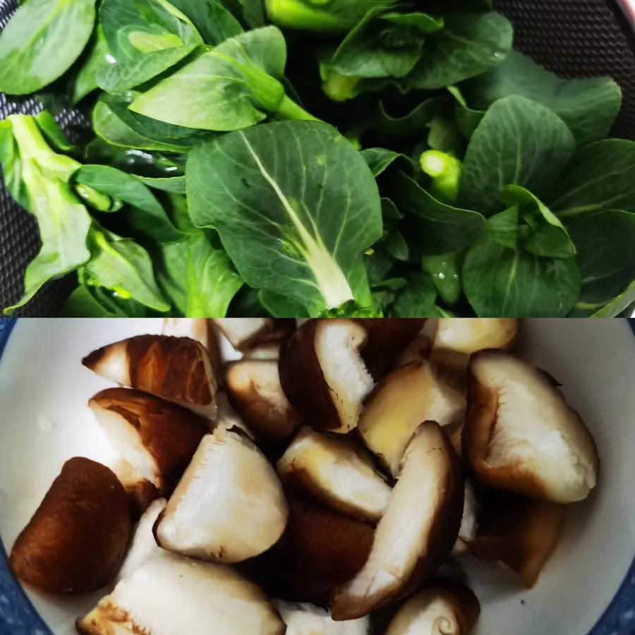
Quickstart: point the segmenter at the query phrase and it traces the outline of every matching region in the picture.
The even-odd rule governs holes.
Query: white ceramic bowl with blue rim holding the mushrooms
[[[1,545],[11,548],[66,459],[116,458],[87,408],[109,383],[83,368],[81,358],[160,328],[161,320],[0,320],[1,635],[74,634],[75,617],[95,601],[25,594]],[[631,635],[635,321],[525,320],[521,353],[562,382],[591,429],[600,483],[571,509],[564,540],[531,591],[494,567],[466,561],[483,605],[476,635]]]

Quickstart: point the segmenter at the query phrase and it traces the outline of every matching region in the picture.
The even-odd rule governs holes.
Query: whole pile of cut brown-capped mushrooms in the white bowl
[[[444,565],[531,588],[598,453],[519,320],[425,322],[169,319],[93,351],[121,461],[67,461],[13,571],[103,589],[83,635],[466,635]]]

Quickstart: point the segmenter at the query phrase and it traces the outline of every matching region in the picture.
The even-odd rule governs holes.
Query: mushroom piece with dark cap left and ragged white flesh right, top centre
[[[282,347],[284,394],[317,430],[356,428],[362,401],[375,384],[361,358],[367,337],[356,320],[308,320]]]

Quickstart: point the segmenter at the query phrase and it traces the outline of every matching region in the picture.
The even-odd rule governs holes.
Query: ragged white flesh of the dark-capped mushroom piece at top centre
[[[375,385],[359,354],[366,340],[363,326],[351,320],[325,320],[315,333],[315,352],[342,422],[336,433],[356,427],[361,402]]]

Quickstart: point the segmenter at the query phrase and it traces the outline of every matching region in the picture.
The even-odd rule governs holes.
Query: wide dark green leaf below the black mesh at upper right
[[[610,78],[561,79],[516,51],[461,88],[476,109],[488,109],[511,95],[538,102],[569,126],[579,145],[605,138],[622,102],[622,92]]]

